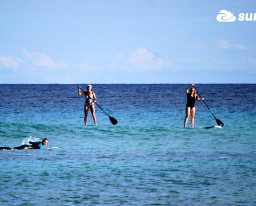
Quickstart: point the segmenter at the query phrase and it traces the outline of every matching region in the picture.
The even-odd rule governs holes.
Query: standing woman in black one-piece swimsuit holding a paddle
[[[190,89],[190,93],[188,91],[189,88],[191,88]],[[191,115],[191,117],[190,117],[190,119],[191,119],[191,127],[194,127],[194,114],[195,114],[194,102],[195,101],[203,101],[204,98],[199,99],[197,97],[197,93],[195,92],[195,89],[194,89],[194,84],[191,84],[186,89],[186,93],[187,93],[187,105],[186,105],[186,118],[184,120],[184,127],[187,127],[187,122],[188,122],[189,115]]]

